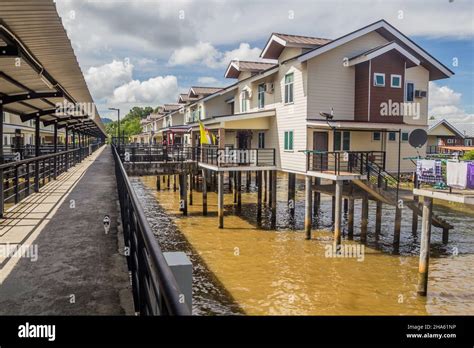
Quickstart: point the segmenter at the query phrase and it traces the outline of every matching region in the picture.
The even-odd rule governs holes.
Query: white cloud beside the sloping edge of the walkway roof
[[[90,67],[84,75],[92,95],[102,99],[116,87],[132,80],[133,65],[127,61],[113,60],[112,63]]]

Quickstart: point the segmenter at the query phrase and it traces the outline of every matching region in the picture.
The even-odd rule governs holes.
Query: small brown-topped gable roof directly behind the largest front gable
[[[278,59],[285,47],[316,48],[330,42],[330,39],[323,39],[312,36],[291,35],[272,33],[265,44],[260,57],[266,59]]]

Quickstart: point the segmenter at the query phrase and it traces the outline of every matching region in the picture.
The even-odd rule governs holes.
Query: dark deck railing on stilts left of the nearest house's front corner
[[[275,166],[275,149],[222,149],[216,145],[203,145],[199,161],[218,167]]]

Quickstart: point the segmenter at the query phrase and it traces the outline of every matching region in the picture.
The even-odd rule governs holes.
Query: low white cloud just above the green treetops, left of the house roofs
[[[114,104],[144,104],[156,106],[176,99],[178,81],[176,76],[157,76],[146,81],[133,80],[113,92],[110,102]]]

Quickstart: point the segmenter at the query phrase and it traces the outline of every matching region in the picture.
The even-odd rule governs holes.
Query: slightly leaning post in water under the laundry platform
[[[420,262],[418,265],[418,295],[426,296],[428,291],[428,266],[430,261],[431,216],[433,199],[424,197],[421,223]]]

